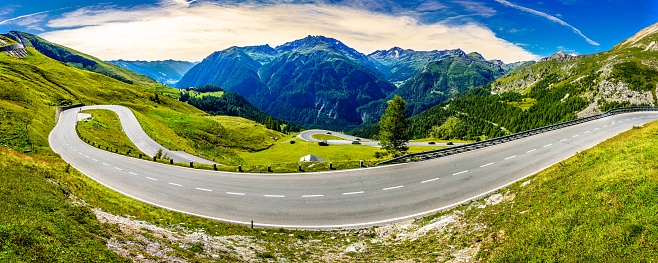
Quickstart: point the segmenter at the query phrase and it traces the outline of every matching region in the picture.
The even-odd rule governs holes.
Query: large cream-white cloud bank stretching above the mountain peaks
[[[314,4],[223,7],[197,2],[188,7],[80,9],[48,26],[61,30],[42,37],[105,60],[197,61],[231,46],[276,46],[307,35],[333,37],[366,54],[399,46],[461,48],[506,62],[538,58],[475,23],[427,25],[408,16]]]

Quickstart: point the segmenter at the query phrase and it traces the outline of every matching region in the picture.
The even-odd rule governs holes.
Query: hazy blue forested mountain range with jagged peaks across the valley
[[[336,39],[308,36],[274,48],[214,52],[176,87],[217,85],[277,118],[309,128],[346,130],[378,120],[396,94],[415,114],[529,64],[504,64],[459,49],[396,47],[365,55]]]

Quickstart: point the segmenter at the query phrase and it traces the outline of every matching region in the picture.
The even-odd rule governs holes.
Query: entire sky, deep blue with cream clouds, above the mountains
[[[104,60],[198,61],[230,46],[325,35],[363,52],[461,48],[505,62],[610,49],[658,22],[638,0],[3,0],[0,33],[40,35]]]

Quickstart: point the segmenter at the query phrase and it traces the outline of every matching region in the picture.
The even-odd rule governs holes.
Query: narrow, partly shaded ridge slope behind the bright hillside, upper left
[[[52,59],[67,63],[78,69],[84,69],[91,72],[100,73],[125,83],[135,84],[138,86],[162,86],[157,81],[120,66],[104,62],[93,56],[82,52],[57,45],[43,38],[29,33],[10,31],[5,34],[17,42],[24,43],[26,47],[33,47],[41,54]]]

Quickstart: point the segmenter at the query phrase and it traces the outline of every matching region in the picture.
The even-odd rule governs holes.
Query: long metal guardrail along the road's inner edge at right
[[[400,157],[396,157],[396,158],[393,158],[393,159],[390,159],[390,160],[379,162],[376,165],[387,164],[387,163],[397,162],[397,161],[401,161],[401,160],[404,160],[404,159],[410,159],[410,158],[416,158],[416,157],[419,157],[421,159],[430,159],[430,158],[448,156],[448,155],[467,152],[467,151],[480,149],[480,148],[484,148],[484,147],[488,147],[488,146],[492,146],[492,145],[496,145],[496,144],[501,144],[501,143],[505,143],[505,142],[525,138],[525,137],[528,137],[528,136],[533,136],[533,135],[544,133],[544,132],[547,132],[547,131],[562,129],[562,128],[565,128],[565,127],[573,126],[573,125],[576,125],[576,124],[581,124],[581,123],[596,120],[596,119],[605,118],[605,117],[612,116],[612,115],[617,115],[617,114],[622,114],[622,113],[629,113],[629,112],[638,112],[638,111],[658,111],[658,107],[635,106],[635,107],[615,108],[615,109],[609,110],[605,113],[601,113],[599,115],[594,115],[594,116],[590,116],[590,117],[565,121],[565,122],[561,122],[561,123],[553,124],[553,125],[549,125],[549,126],[534,128],[532,130],[518,132],[518,133],[505,135],[505,136],[501,136],[501,137],[497,137],[497,138],[492,138],[492,139],[488,139],[488,140],[484,140],[484,141],[479,141],[479,142],[474,142],[474,143],[469,143],[469,144],[463,144],[463,145],[453,146],[453,147],[449,147],[449,148],[431,150],[431,151],[409,153],[409,154],[402,155]]]

